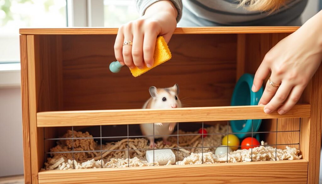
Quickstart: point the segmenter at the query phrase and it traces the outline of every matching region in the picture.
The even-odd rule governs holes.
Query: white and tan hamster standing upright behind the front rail
[[[179,85],[175,84],[169,88],[156,88],[151,86],[149,89],[151,98],[145,102],[143,109],[170,109],[170,108],[180,108],[181,101],[179,100]],[[163,143],[170,145],[171,143],[167,141],[169,135],[172,134],[175,125],[177,123],[154,123],[154,134],[155,138],[162,138]],[[149,136],[147,139],[150,141],[150,147],[154,146],[153,137],[153,123],[140,124],[142,134],[144,136]],[[162,136],[158,136],[162,135]]]

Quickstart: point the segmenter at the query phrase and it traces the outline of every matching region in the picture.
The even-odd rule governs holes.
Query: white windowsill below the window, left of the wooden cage
[[[20,76],[20,63],[0,63],[0,88],[20,87]]]

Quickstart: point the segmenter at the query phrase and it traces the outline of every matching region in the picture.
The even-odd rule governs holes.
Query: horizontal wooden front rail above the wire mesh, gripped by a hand
[[[265,114],[264,106],[190,107],[176,109],[130,109],[99,111],[52,111],[37,113],[37,127],[119,125],[157,122],[200,122],[247,119],[300,118],[310,116],[309,104],[295,105],[289,112]]]

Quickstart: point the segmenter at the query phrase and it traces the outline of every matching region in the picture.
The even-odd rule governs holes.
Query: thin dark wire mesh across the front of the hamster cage
[[[162,136],[169,136],[169,135],[156,135],[156,132],[155,132],[155,125],[153,123],[153,140],[154,142],[151,143],[152,145],[152,150],[153,150],[153,166],[155,166],[155,150],[162,150],[162,149],[171,149],[171,150],[176,150],[177,153],[176,153],[176,161],[179,161],[179,152],[180,152],[180,149],[201,149],[201,156],[202,156],[202,163],[204,163],[204,149],[208,149],[208,148],[218,148],[220,147],[220,145],[211,145],[211,146],[205,146],[204,144],[204,136],[208,136],[208,135],[226,135],[227,136],[227,143],[226,143],[226,147],[227,147],[227,153],[226,153],[226,162],[229,162],[229,158],[228,158],[228,151],[229,151],[229,135],[237,135],[237,134],[250,134],[251,135],[251,138],[254,138],[254,135],[255,134],[260,134],[260,133],[275,133],[275,144],[274,143],[270,143],[270,144],[265,144],[265,146],[272,146],[274,147],[275,146],[275,160],[277,160],[277,148],[278,146],[283,146],[283,145],[298,145],[298,148],[299,148],[299,144],[300,144],[300,127],[301,127],[301,118],[299,119],[299,129],[298,130],[279,130],[279,119],[276,119],[276,130],[272,130],[272,131],[254,131],[254,124],[253,122],[251,122],[251,131],[247,131],[247,132],[230,132],[230,125],[229,125],[229,121],[227,121],[227,124],[224,125],[224,126],[227,126],[227,132],[223,133],[223,132],[220,132],[220,133],[210,133],[210,132],[207,132],[205,133],[204,132],[204,122],[201,122],[201,128],[202,128],[202,131],[201,133],[187,133],[187,134],[181,134],[179,132],[179,124],[180,123],[177,123],[177,132],[175,134],[172,134],[171,136],[175,136],[176,137],[176,146],[173,147],[173,148],[156,148],[155,147],[155,138],[156,136],[158,137],[162,137]],[[208,124],[207,124],[208,126]],[[183,126],[180,126],[180,128],[184,128]],[[100,125],[99,126],[99,136],[94,136],[94,137],[75,137],[74,135],[74,126],[71,127],[71,138],[47,138],[45,133],[45,129],[44,129],[44,154],[45,154],[45,158],[48,154],[58,154],[58,153],[71,153],[72,154],[72,159],[75,160],[75,153],[80,153],[80,152],[100,152],[100,162],[101,162],[101,168],[103,168],[103,151],[125,151],[126,152],[126,157],[128,159],[128,163],[127,163],[127,166],[130,167],[130,162],[129,160],[131,159],[130,157],[130,151],[135,151],[135,150],[142,150],[142,151],[147,151],[147,150],[151,150],[149,148],[138,148],[138,149],[130,149],[130,146],[129,146],[129,142],[130,142],[130,138],[147,138],[147,137],[151,137],[150,135],[141,135],[141,136],[130,136],[129,134],[129,125],[127,125],[127,136],[102,136],[102,126]],[[298,132],[298,142],[284,142],[284,143],[279,143],[278,142],[278,133],[282,133],[282,132]],[[200,135],[201,137],[201,146],[191,146],[191,145],[188,145],[188,146],[180,146],[179,144],[179,139],[180,139],[180,136],[196,136],[196,135]],[[113,149],[113,150],[105,150],[103,149],[103,139],[114,139],[114,138],[117,138],[117,139],[127,139],[127,147],[124,148],[124,149]],[[100,142],[100,149],[99,150],[75,150],[74,148],[74,141],[75,140],[79,140],[79,139],[94,139],[94,140],[97,140]],[[69,151],[48,151],[46,150],[46,143],[45,141],[50,141],[50,140],[72,140],[72,148],[71,150]],[[250,145],[250,149],[251,149],[251,161],[254,161],[253,160],[253,139],[251,139],[251,145]],[[199,152],[200,153],[200,152]],[[73,169],[75,169],[75,165],[73,164]]]

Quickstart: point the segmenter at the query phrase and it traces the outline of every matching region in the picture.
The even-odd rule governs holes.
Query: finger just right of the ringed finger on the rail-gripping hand
[[[270,100],[270,102],[267,105],[265,105],[264,112],[268,114],[272,111],[275,111],[286,100],[292,87],[293,86],[287,82],[282,83],[279,86],[274,97]]]

